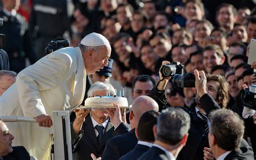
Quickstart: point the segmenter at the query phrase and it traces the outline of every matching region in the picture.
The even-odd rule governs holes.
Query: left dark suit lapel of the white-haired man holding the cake
[[[96,146],[96,148],[98,148],[99,144],[98,144],[98,140],[95,134],[95,129],[93,128],[93,124],[90,116],[85,119],[83,128],[85,130],[85,136],[88,136],[89,139],[91,139],[93,144]]]

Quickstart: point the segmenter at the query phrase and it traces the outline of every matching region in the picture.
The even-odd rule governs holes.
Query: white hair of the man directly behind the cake
[[[94,95],[93,93],[95,91],[106,91],[106,92],[110,92],[110,95],[114,95],[114,88],[110,83],[107,82],[95,82],[91,85],[91,88],[89,89],[87,96],[92,97],[92,96],[97,96]]]

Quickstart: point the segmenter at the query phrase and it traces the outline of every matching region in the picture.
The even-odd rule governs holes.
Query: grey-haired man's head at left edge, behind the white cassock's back
[[[16,72],[0,70],[0,96],[16,81]]]

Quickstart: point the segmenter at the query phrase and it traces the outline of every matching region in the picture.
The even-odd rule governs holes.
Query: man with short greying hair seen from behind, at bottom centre
[[[172,107],[163,110],[153,127],[156,141],[140,160],[171,159],[175,160],[185,146],[190,129],[190,115],[182,108]]]

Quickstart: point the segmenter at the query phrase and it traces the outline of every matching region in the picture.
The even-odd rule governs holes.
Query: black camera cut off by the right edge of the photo
[[[256,84],[250,85],[248,89],[242,89],[240,98],[245,107],[256,110]]]

